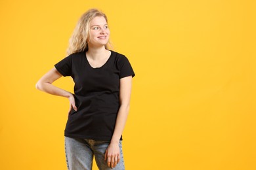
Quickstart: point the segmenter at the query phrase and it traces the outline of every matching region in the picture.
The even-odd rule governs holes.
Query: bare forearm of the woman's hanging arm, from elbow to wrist
[[[123,133],[123,129],[125,128],[125,123],[127,121],[127,116],[129,113],[129,106],[128,105],[121,105],[119,108],[117,118],[116,118],[116,126],[114,129],[114,134],[111,139],[111,143],[118,143]]]

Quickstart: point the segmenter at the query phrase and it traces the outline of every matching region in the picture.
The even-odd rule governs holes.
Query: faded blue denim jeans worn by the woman
[[[96,165],[100,170],[125,169],[122,141],[119,141],[120,161],[117,163],[116,167],[111,168],[108,167],[107,160],[104,161],[105,151],[108,148],[110,141],[64,137],[68,170],[91,170],[93,167],[93,155],[95,156]]]

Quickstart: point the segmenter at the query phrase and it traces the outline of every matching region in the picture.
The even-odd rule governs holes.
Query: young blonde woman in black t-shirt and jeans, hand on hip
[[[37,82],[36,88],[70,101],[64,131],[68,169],[125,169],[122,135],[129,112],[132,78],[129,60],[110,50],[106,15],[85,12],[70,38],[68,55]],[[53,86],[61,76],[72,76],[74,94]]]

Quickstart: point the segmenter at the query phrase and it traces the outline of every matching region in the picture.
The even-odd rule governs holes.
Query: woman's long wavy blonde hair
[[[78,20],[77,25],[75,26],[74,32],[70,37],[69,46],[67,49],[67,54],[73,54],[75,52],[82,52],[88,50],[87,39],[90,37],[90,23],[93,18],[96,16],[103,16],[108,23],[108,18],[101,10],[98,9],[89,9],[85,12]],[[110,39],[105,45],[107,50],[113,48],[112,42]]]

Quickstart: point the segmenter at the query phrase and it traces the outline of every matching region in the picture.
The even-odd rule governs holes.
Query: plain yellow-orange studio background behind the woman
[[[126,169],[256,169],[255,1],[242,0],[1,1],[1,169],[66,169],[68,99],[35,83],[93,7],[136,74]],[[54,85],[74,92],[70,77]]]

